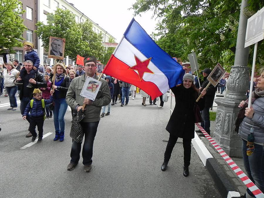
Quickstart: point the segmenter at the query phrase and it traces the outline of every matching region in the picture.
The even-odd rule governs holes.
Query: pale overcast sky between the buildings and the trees
[[[100,27],[106,30],[109,34],[116,38],[119,43],[123,33],[128,24],[133,18],[133,10],[128,10],[136,0],[67,0],[73,3],[74,6]],[[145,29],[150,35],[155,31],[155,26],[158,21],[151,19],[152,12],[142,13],[141,17],[136,16],[136,21]]]

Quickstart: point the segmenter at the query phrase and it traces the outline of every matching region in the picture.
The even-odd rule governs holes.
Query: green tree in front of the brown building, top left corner
[[[22,4],[18,0],[0,0],[0,5],[0,53],[6,50],[15,53],[13,47],[22,47],[19,40],[23,40],[26,26],[19,15],[25,11],[20,9]]]

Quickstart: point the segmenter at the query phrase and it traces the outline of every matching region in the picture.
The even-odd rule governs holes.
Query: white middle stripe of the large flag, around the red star
[[[137,48],[135,48],[131,43],[129,43],[126,38],[123,38],[118,49],[116,50],[115,57],[126,63],[128,66],[132,67],[136,65],[135,56],[141,61],[148,59],[141,53]],[[151,61],[149,62],[148,68],[154,73],[145,73],[143,79],[145,81],[153,82],[158,86],[160,91],[164,94],[169,90],[168,79],[163,72],[161,72],[157,66],[155,66]],[[137,71],[135,71],[137,72]]]

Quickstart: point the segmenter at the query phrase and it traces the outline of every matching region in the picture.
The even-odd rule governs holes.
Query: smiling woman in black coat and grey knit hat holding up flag
[[[182,84],[172,87],[171,90],[175,95],[176,104],[166,127],[166,130],[170,133],[170,138],[164,153],[164,162],[161,170],[165,171],[167,169],[167,164],[177,139],[183,138],[183,175],[187,177],[189,175],[188,167],[191,160],[191,141],[194,138],[194,104],[198,98],[198,90],[194,86],[193,76],[189,73],[183,76]],[[206,91],[203,90],[201,94],[202,98],[197,102],[200,110],[204,108],[203,96],[206,94]]]

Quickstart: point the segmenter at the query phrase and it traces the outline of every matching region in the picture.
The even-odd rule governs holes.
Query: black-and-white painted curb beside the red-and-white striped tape
[[[237,192],[236,186],[234,185],[229,175],[226,174],[225,170],[219,165],[218,161],[213,158],[209,150],[206,148],[202,140],[198,137],[197,133],[194,132],[194,138],[192,139],[192,145],[196,150],[202,163],[211,175],[214,183],[219,190],[222,197],[235,198],[240,197],[240,193]]]

